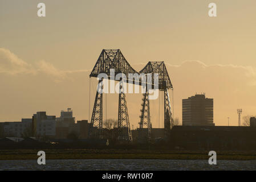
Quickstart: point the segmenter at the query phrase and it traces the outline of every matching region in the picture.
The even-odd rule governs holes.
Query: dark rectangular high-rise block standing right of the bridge
[[[182,100],[182,125],[214,126],[213,98],[205,98],[205,94],[196,94]]]

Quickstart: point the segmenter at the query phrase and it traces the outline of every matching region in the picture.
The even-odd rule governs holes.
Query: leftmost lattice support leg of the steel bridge
[[[103,81],[99,81],[96,91],[96,97],[94,102],[94,110],[92,110],[91,125],[89,129],[90,138],[101,138],[102,136],[102,100],[103,93],[99,93],[98,90],[102,88]]]

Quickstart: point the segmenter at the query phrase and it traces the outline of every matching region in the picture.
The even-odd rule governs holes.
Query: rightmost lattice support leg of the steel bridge
[[[164,137],[168,138],[170,129],[173,127],[172,108],[170,107],[170,99],[168,89],[164,90]]]

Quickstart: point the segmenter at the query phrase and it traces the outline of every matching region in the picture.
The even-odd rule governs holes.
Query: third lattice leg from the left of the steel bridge
[[[140,116],[140,130],[139,130],[139,140],[147,141],[151,139],[151,121],[150,121],[150,109],[149,109],[149,99],[148,91],[143,94],[143,104],[141,104],[142,109]],[[147,127],[147,131],[145,128]]]

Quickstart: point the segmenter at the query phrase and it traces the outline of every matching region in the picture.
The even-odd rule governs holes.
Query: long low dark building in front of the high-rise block
[[[256,150],[256,127],[174,126],[170,145],[180,150]]]

